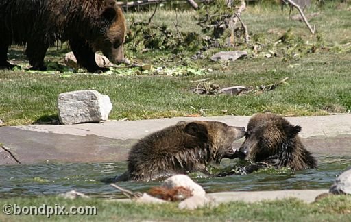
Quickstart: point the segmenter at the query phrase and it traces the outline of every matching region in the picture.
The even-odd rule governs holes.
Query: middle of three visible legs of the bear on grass
[[[31,69],[40,71],[47,70],[47,67],[44,65],[44,57],[48,48],[49,44],[43,42],[35,41],[27,43],[25,53],[29,59],[29,64],[32,66]]]

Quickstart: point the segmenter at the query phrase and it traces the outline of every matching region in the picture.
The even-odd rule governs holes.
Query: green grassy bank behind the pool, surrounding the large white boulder
[[[312,9],[311,12],[313,12]],[[150,12],[151,13],[151,12]],[[130,18],[147,21],[150,13],[128,13]],[[249,56],[236,62],[192,60],[182,53],[152,50],[144,53],[128,52],[130,60],[139,64],[153,64],[172,71],[172,75],[151,75],[149,71],[123,69],[120,74],[93,75],[88,73],[31,73],[28,71],[0,71],[0,119],[5,125],[51,121],[58,119],[56,102],[59,93],[71,90],[95,89],[109,95],[114,106],[110,119],[154,119],[172,116],[252,115],[270,110],[287,116],[345,113],[351,110],[351,21],[347,8],[328,6],[322,14],[311,19],[319,32],[318,40],[311,36],[303,23],[287,18],[287,11],[278,8],[248,8],[243,15],[252,36],[263,42],[274,42],[289,28],[300,36],[304,45],[318,45],[314,53],[298,52],[295,56]],[[194,12],[179,12],[182,31],[197,29],[191,18]],[[174,12],[160,10],[154,23],[172,27]],[[260,37],[261,36],[261,37]],[[321,44],[323,45],[321,47]],[[280,47],[282,49],[284,46]],[[240,49],[245,49],[242,45]],[[276,49],[279,51],[280,49]],[[22,49],[13,48],[10,58],[27,62]],[[216,49],[218,51],[218,49]],[[247,47],[249,52],[252,51]],[[295,50],[295,49],[293,49]],[[46,60],[60,61],[67,49],[51,48]],[[209,70],[210,69],[210,70]],[[180,71],[179,71],[180,70]],[[178,76],[177,76],[178,75]],[[198,79],[209,78],[221,88],[247,86],[252,89],[274,84],[289,77],[287,84],[274,90],[255,91],[243,96],[198,95],[193,93]]]

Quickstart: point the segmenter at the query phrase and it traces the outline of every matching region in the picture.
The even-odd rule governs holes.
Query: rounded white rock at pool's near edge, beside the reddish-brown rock
[[[183,186],[184,188],[191,190],[191,194],[193,196],[205,197],[206,195],[204,188],[202,188],[202,186],[200,186],[199,184],[193,182],[193,180],[191,180],[191,178],[187,175],[173,175],[167,180],[165,180],[162,186],[165,186],[167,188]]]

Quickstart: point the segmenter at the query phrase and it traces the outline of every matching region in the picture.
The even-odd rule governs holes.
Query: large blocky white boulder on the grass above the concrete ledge
[[[58,117],[62,124],[101,122],[108,119],[112,103],[97,90],[78,90],[58,95]]]

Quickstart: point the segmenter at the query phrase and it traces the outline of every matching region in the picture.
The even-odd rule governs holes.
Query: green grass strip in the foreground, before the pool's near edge
[[[54,221],[350,221],[351,197],[326,197],[313,204],[296,199],[263,201],[254,204],[232,202],[215,208],[180,210],[176,204],[126,204],[101,199],[66,200],[58,197],[1,199],[3,204],[17,206],[95,206],[97,215],[51,216]],[[0,221],[45,221],[46,216],[0,213]]]

